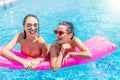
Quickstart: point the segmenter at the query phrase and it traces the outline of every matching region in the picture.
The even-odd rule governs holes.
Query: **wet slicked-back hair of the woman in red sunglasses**
[[[68,33],[73,33],[73,36],[71,37],[71,39],[73,39],[74,37],[74,26],[71,22],[61,22],[58,25],[65,25],[67,27],[67,32]]]

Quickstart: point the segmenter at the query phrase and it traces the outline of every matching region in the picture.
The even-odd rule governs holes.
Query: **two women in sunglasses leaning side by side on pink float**
[[[48,56],[50,57],[50,65],[53,71],[61,67],[62,62],[67,62],[69,56],[76,56],[79,58],[91,58],[92,55],[88,48],[74,36],[74,26],[70,22],[62,22],[58,24],[58,28],[54,30],[57,41],[54,42],[50,50],[46,41],[38,34],[39,21],[35,15],[27,15],[23,21],[23,33],[18,33],[2,50],[2,55],[21,63],[25,69],[31,70],[44,61]],[[21,53],[30,57],[32,60],[25,60],[14,55],[10,50],[20,43]],[[81,52],[76,52],[76,47]],[[48,52],[50,55],[48,55]],[[44,57],[43,57],[44,56]],[[43,57],[43,58],[41,58]]]

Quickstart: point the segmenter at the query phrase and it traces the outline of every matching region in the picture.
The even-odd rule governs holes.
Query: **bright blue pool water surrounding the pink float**
[[[6,10],[0,9],[0,46],[6,45],[18,32],[23,32],[22,22],[29,13],[39,18],[39,33],[48,45],[56,40],[53,30],[61,21],[72,22],[75,36],[83,42],[101,35],[117,45],[108,56],[87,64],[61,68],[57,72],[0,67],[0,80],[120,80],[120,6],[114,5],[120,1],[113,1],[17,0]],[[15,49],[19,50],[19,47],[18,44]]]

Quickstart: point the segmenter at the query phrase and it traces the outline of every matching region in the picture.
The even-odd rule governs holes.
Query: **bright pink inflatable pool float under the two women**
[[[110,53],[112,53],[116,49],[116,45],[112,43],[109,39],[103,36],[94,36],[91,39],[87,40],[84,42],[84,44],[89,48],[89,50],[92,53],[92,58],[91,59],[82,59],[82,58],[77,58],[77,57],[70,57],[68,58],[67,63],[63,63],[62,67],[67,67],[67,66],[72,66],[72,65],[77,65],[77,64],[84,64],[88,63],[94,60],[97,60],[99,58],[102,58]],[[1,50],[3,49],[3,46],[0,47],[0,53]],[[76,48],[76,51],[79,51],[79,49]],[[31,59],[31,57],[27,57],[25,55],[22,55],[20,52],[11,50],[15,55],[22,57],[24,59]],[[12,68],[12,69],[24,69],[22,64],[7,59],[3,56],[0,55],[0,66],[7,67],[7,68]],[[50,68],[50,63],[49,61],[44,61],[38,65],[36,70],[49,70]]]

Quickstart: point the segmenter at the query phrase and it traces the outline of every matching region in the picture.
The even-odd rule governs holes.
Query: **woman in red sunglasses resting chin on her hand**
[[[63,62],[67,62],[70,56],[79,58],[91,58],[92,55],[88,48],[74,36],[74,26],[70,22],[62,22],[58,24],[58,28],[54,30],[57,41],[50,47],[50,64],[53,71],[61,67]],[[80,52],[76,52],[79,49]]]

